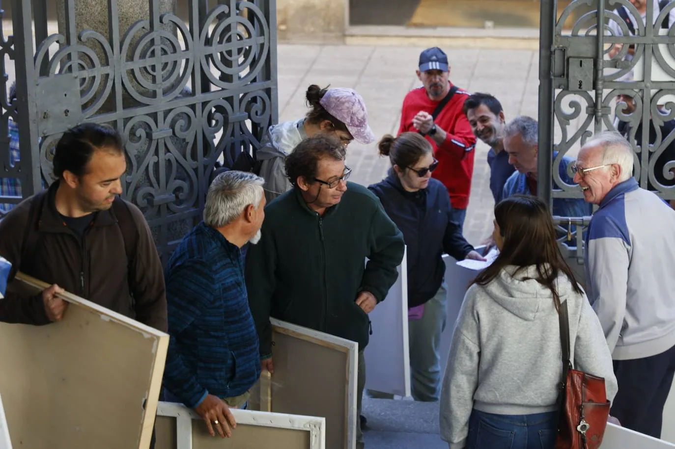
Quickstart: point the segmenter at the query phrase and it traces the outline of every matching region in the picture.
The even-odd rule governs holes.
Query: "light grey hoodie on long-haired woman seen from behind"
[[[489,283],[472,285],[457,319],[441,388],[441,438],[464,448],[472,409],[499,415],[556,411],[562,381],[558,312],[549,289],[508,266]],[[586,295],[558,278],[560,301],[567,301],[570,357],[574,368],[605,378],[607,399],[617,384],[612,355]]]

